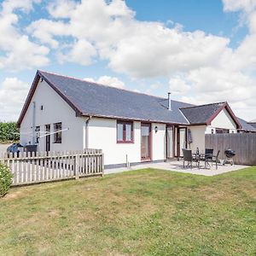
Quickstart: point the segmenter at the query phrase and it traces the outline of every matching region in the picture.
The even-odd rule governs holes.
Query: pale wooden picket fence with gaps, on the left
[[[64,179],[78,179],[103,175],[104,163],[101,149],[73,152],[37,152],[3,154],[0,160],[13,173],[13,186],[44,183]]]

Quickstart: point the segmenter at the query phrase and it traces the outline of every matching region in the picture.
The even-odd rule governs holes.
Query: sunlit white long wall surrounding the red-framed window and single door
[[[141,122],[133,122],[133,143],[117,143],[117,120],[92,118],[89,122],[89,148],[102,148],[105,165],[141,162]],[[158,127],[157,133],[154,127]],[[152,160],[165,159],[166,125],[152,124]]]

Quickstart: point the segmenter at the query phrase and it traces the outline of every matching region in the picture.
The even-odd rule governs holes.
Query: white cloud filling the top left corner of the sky
[[[20,70],[48,64],[49,49],[33,43],[17,28],[19,16],[15,14],[15,10],[29,12],[32,10],[32,3],[34,2],[38,3],[38,1],[32,0],[9,0],[2,3],[0,12],[0,67]]]

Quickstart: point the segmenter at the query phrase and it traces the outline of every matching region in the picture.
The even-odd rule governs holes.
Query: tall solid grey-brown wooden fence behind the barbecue
[[[224,151],[231,148],[236,151],[234,158],[238,165],[256,165],[256,133],[206,134],[206,148],[213,148],[220,159],[224,159]]]

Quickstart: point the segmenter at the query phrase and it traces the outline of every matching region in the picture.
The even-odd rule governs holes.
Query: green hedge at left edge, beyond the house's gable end
[[[15,122],[0,123],[0,142],[19,141],[19,130]]]

